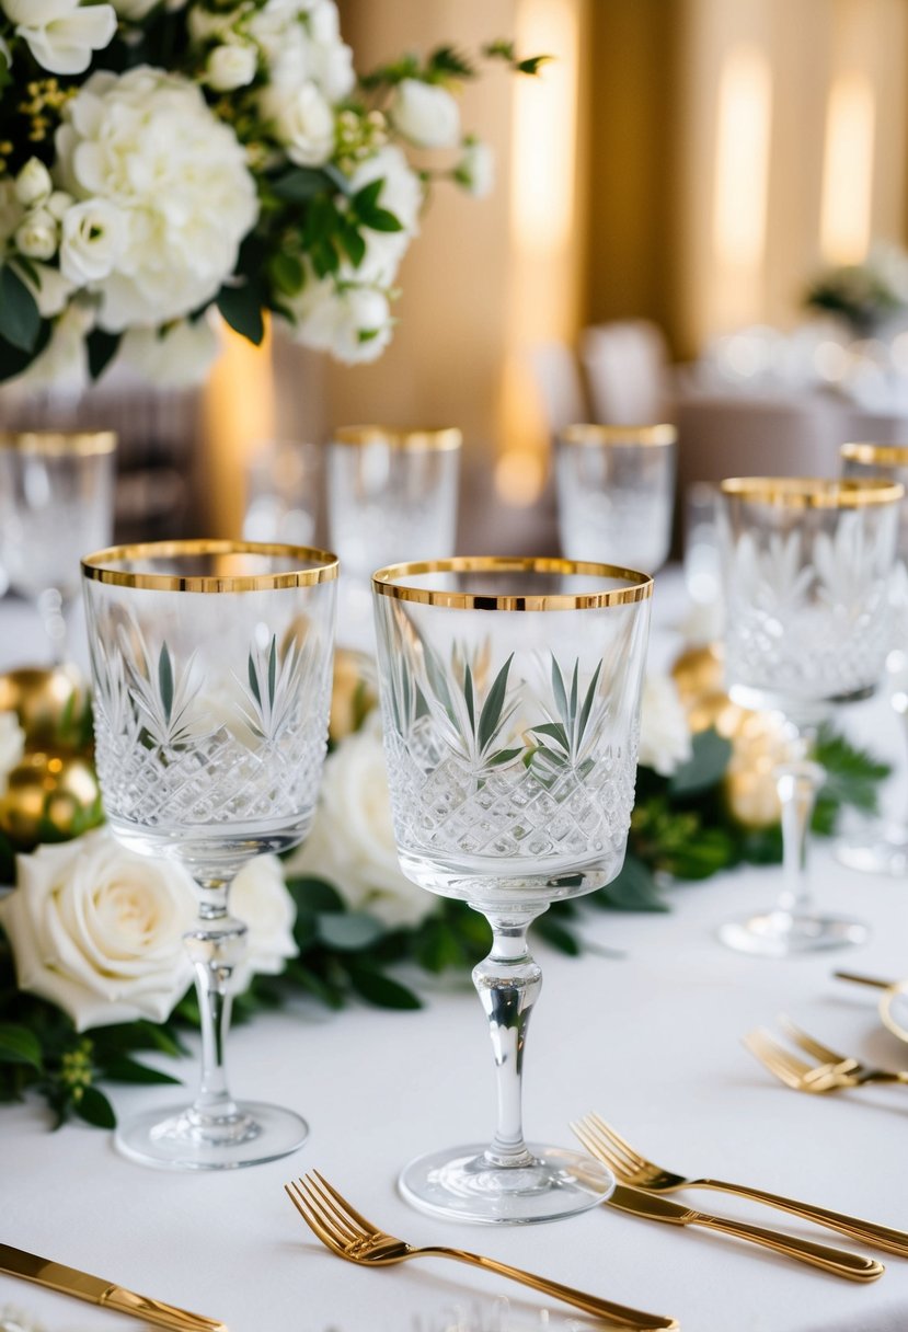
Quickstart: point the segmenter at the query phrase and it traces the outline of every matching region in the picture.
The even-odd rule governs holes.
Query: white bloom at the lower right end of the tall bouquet
[[[387,297],[369,286],[337,288],[333,278],[309,276],[302,292],[286,301],[296,317],[297,342],[330,352],[347,365],[375,361],[391,340]]]

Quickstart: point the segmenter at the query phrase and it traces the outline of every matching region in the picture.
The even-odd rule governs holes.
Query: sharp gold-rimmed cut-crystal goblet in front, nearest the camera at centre
[[[614,1187],[586,1156],[527,1146],[523,1046],[541,970],[526,932],[624,859],[652,582],[607,565],[459,557],[374,577],[385,753],[401,866],[481,911],[473,980],[498,1076],[490,1146],[433,1152],[401,1176],[414,1205],[542,1221]]]

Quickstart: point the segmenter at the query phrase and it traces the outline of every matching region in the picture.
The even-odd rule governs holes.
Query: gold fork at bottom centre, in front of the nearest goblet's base
[[[675,1319],[662,1317],[658,1313],[643,1313],[640,1309],[631,1309],[623,1304],[612,1304],[610,1300],[584,1295],[583,1291],[574,1291],[570,1285],[562,1285],[561,1281],[534,1276],[533,1272],[525,1272],[519,1267],[509,1267],[506,1263],[482,1257],[479,1253],[445,1248],[438,1244],[427,1244],[421,1248],[407,1244],[406,1240],[399,1240],[367,1221],[318,1171],[310,1171],[302,1179],[284,1187],[306,1225],[322,1244],[350,1263],[383,1267],[391,1263],[406,1263],[410,1257],[453,1257],[458,1263],[470,1263],[487,1272],[510,1276],[515,1281],[522,1281],[523,1285],[542,1291],[543,1295],[553,1295],[566,1304],[574,1304],[584,1313],[595,1313],[615,1328],[631,1328],[632,1332],[662,1332],[662,1329],[667,1329],[667,1332],[675,1329],[676,1332],[678,1329]]]

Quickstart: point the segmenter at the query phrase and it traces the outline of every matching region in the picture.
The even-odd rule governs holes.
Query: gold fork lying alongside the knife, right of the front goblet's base
[[[778,1207],[783,1212],[792,1212],[816,1225],[825,1225],[831,1231],[840,1231],[855,1240],[863,1240],[875,1248],[888,1249],[908,1257],[908,1232],[896,1231],[888,1225],[879,1225],[876,1221],[864,1221],[857,1216],[848,1216],[844,1212],[832,1212],[825,1207],[813,1207],[811,1203],[801,1203],[794,1197],[784,1197],[780,1193],[768,1193],[762,1188],[751,1188],[747,1184],[728,1184],[722,1179],[707,1179],[692,1175],[678,1175],[663,1169],[655,1162],[648,1160],[635,1151],[631,1144],[615,1132],[599,1115],[586,1115],[579,1124],[572,1124],[574,1132],[586,1131],[586,1138],[580,1142],[587,1151],[592,1152],[600,1162],[626,1184],[646,1189],[654,1193],[674,1193],[679,1188],[712,1188],[723,1193],[736,1193],[739,1197],[750,1197],[768,1207]]]

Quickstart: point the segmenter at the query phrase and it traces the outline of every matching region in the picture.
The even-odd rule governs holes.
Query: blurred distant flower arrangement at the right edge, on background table
[[[808,309],[837,314],[856,337],[871,337],[908,309],[908,254],[877,242],[863,264],[843,264],[820,274],[807,289]]]

